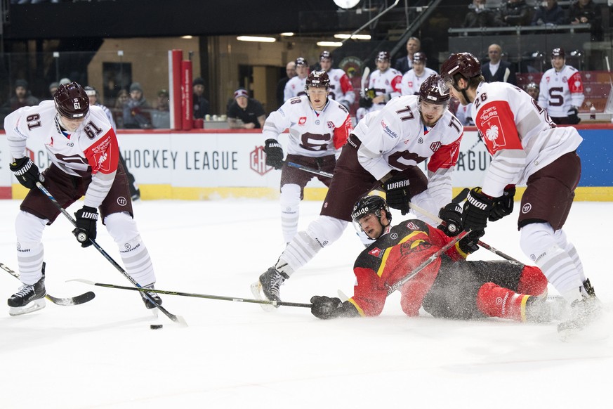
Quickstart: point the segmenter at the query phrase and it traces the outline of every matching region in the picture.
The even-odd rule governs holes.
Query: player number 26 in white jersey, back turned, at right
[[[487,83],[470,53],[452,54],[441,77],[473,119],[492,162],[482,188],[473,188],[463,209],[463,225],[482,229],[513,212],[515,184],[526,183],[518,228],[523,252],[572,303],[573,316],[559,330],[575,331],[599,315],[600,301],[574,245],[562,227],[581,176],[576,148],[582,141],[572,126],[558,128],[525,91],[503,82]],[[542,89],[541,89],[542,91]]]

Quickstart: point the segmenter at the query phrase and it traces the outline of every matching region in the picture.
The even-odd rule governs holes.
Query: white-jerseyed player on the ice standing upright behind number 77
[[[317,177],[329,186],[330,178],[315,176],[284,163],[283,148],[277,138],[289,129],[287,162],[334,172],[336,156],[340,155],[352,127],[348,110],[328,98],[329,85],[326,72],[311,72],[306,79],[306,95],[286,101],[264,122],[266,164],[282,169],[280,204],[285,242],[290,242],[298,231],[300,202],[306,184]]]

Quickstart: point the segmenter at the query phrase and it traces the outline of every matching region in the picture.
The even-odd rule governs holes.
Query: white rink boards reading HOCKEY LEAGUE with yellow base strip
[[[579,148],[583,164],[577,200],[613,200],[613,126],[579,126],[584,142]],[[279,136],[286,146],[288,134]],[[267,167],[263,136],[237,131],[119,131],[119,147],[136,177],[144,200],[215,200],[226,197],[275,198],[281,171]],[[29,154],[39,167],[50,164],[43,146],[29,144]],[[0,138],[0,198],[21,198],[26,190],[8,169],[11,154]],[[490,157],[475,128],[466,128],[454,188],[479,186]],[[426,163],[422,163],[425,169]],[[306,200],[322,200],[323,183],[313,180]]]

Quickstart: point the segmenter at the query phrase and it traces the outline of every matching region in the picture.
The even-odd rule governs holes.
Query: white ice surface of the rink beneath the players
[[[13,218],[0,201],[1,262],[17,268]],[[301,228],[320,203],[303,202]],[[517,206],[516,206],[517,207]],[[74,205],[71,213],[79,208]],[[162,290],[251,298],[249,285],[282,250],[275,200],[137,202],[136,221]],[[612,203],[576,202],[565,230],[598,297],[610,306],[613,274],[602,219]],[[403,219],[394,212],[394,221]],[[490,223],[483,241],[522,261],[515,217]],[[98,242],[119,260],[99,223]],[[93,290],[79,306],[0,313],[0,408],[604,408],[612,405],[613,337],[560,342],[553,324],[408,318],[400,295],[377,318],[318,320],[308,309],[162,295],[179,328],[152,318],[136,292],[66,283],[130,285],[95,249],[81,249],[60,216],[46,229],[46,286],[55,297]],[[362,245],[351,226],[281,287],[284,301],[352,294]],[[474,259],[496,259],[480,250]],[[19,287],[0,271],[0,298]],[[550,293],[555,290],[550,288]],[[2,301],[3,303],[6,301]],[[0,310],[1,311],[1,310]],[[150,325],[163,324],[162,330]],[[600,323],[613,332],[612,314]]]

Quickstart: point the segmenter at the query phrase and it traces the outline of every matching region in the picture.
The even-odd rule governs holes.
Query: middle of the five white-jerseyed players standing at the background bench
[[[369,112],[382,110],[386,103],[395,96],[400,96],[400,71],[390,68],[390,53],[381,51],[375,58],[377,70],[371,72],[365,98],[360,98],[360,108],[355,117],[357,122]]]

